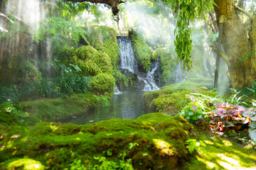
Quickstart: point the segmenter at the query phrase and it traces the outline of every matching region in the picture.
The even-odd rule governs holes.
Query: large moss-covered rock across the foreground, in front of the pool
[[[1,129],[1,169],[21,168],[14,162],[24,157],[47,169],[69,169],[78,160],[85,167],[103,164],[97,157],[118,162],[120,154],[124,161],[132,159],[134,169],[176,169],[187,157],[184,142],[191,125],[180,116],[150,113],[137,120],[112,119],[86,125],[39,123]]]

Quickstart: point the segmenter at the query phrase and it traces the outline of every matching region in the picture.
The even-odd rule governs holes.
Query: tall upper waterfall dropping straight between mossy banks
[[[137,64],[132,50],[132,40],[127,36],[118,36],[117,43],[119,45],[119,57],[121,60],[120,67],[128,69],[129,72],[136,72]]]

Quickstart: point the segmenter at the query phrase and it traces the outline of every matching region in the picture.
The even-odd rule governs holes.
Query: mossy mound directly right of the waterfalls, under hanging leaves
[[[154,60],[160,60],[161,70],[163,74],[161,80],[164,84],[169,84],[171,79],[174,79],[176,72],[176,58],[172,57],[171,52],[166,48],[158,48],[154,50],[152,58]]]

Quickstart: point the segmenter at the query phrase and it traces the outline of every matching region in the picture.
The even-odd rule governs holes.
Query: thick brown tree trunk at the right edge
[[[235,11],[233,0],[215,0],[215,4],[218,23],[220,15],[227,18],[222,38],[225,55],[221,57],[228,64],[231,84],[234,88],[250,87],[256,79],[256,16],[247,30]]]

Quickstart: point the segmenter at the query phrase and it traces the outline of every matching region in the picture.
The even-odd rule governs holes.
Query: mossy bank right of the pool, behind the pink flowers
[[[163,113],[178,113],[186,106],[186,94],[196,92],[210,97],[216,96],[216,91],[210,91],[205,86],[213,86],[212,79],[188,79],[180,84],[169,84],[158,91],[144,94],[144,105],[149,111]]]

